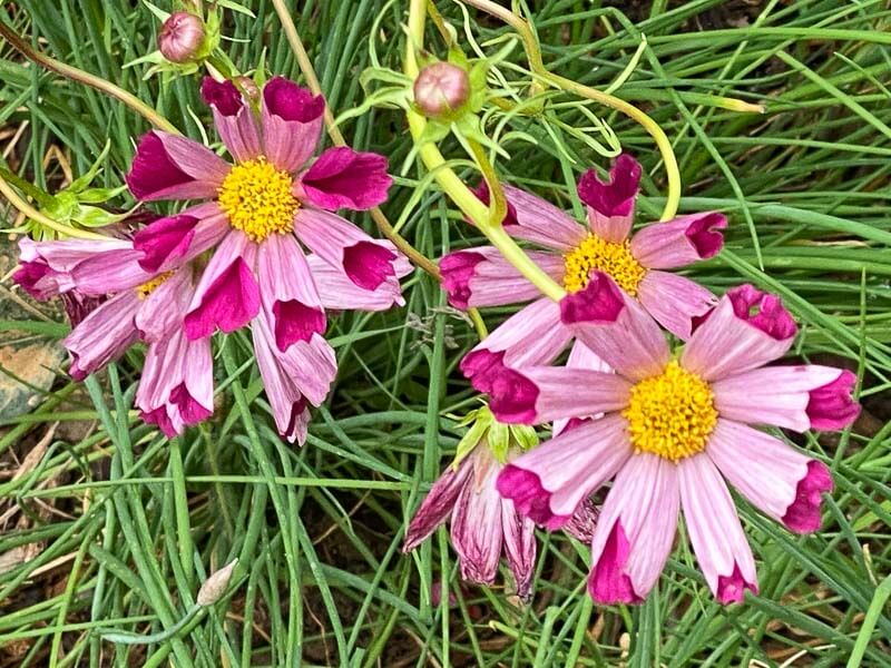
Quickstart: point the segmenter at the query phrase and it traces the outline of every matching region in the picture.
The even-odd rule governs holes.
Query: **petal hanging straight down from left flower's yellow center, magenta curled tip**
[[[257,276],[263,307],[271,316],[281,352],[325,332],[325,312],[310,265],[292,235],[274,234],[260,245]]]

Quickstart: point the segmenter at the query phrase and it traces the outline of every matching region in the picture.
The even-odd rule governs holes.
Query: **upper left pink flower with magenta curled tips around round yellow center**
[[[302,442],[307,403],[324,400],[336,372],[325,310],[404,303],[408,261],[333,213],[382,203],[392,183],[386,159],[336,147],[311,160],[324,99],[282,77],[265,85],[258,105],[209,77],[202,95],[234,164],[186,137],[145,135],[127,175],[134,196],[202,202],[139,230],[134,247],[146,272],[209,255],[185,308],[185,338],[253,323],[278,431]]]

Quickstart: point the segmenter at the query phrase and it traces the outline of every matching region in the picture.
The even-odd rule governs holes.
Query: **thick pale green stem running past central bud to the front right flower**
[[[418,61],[414,58],[414,50],[423,47],[425,11],[425,0],[411,0],[411,4],[409,6],[409,43],[405,49],[404,68],[405,73],[412,78],[418,76]],[[423,135],[424,127],[427,127],[427,119],[411,109],[407,112],[407,116],[412,137],[414,137],[417,141]],[[439,148],[437,148],[435,144],[432,141],[422,144],[418,147],[418,155],[456,206],[458,206],[468,218],[473,220],[479,230],[486,235],[486,238],[488,238],[489,242],[498,248],[501,255],[505,256],[505,259],[517,267],[517,269],[532,285],[540,289],[545,296],[550,297],[555,302],[559,302],[566,296],[566,291],[555,283],[541,267],[529,259],[529,256],[523,253],[522,248],[517,245],[501,226],[505,212],[505,208],[501,207],[506,206],[503,203],[503,195],[501,195],[501,187],[498,184],[498,179],[495,177],[495,170],[489,165],[484,151],[478,146],[474,148],[474,146],[476,145],[471,144],[471,150],[492,193],[493,206],[491,210],[479,200],[452,169],[443,167],[443,165],[446,165],[446,158],[442,156]],[[499,196],[501,198],[500,204]],[[501,212],[500,216],[498,216],[499,209]],[[495,217],[492,217],[493,214]]]

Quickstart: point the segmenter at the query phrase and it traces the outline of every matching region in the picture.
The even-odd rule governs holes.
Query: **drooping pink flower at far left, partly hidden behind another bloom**
[[[22,238],[13,279],[38,299],[76,295],[109,297],[90,311],[62,342],[69,373],[84,380],[137,341],[148,344],[136,405],[167,436],[213,412],[209,340],[188,341],[183,317],[194,293],[195,271],[146,272],[128,240],[33,242]]]

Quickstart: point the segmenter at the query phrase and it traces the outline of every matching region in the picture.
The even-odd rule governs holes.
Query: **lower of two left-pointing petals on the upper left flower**
[[[215,202],[159,218],[134,236],[146,272],[167,272],[216,246],[229,230],[226,215]]]

